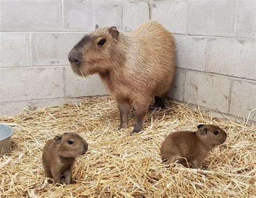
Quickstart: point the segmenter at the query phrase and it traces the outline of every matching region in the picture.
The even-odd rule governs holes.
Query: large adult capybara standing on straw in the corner
[[[105,39],[104,45],[98,42]],[[80,76],[98,73],[116,99],[125,128],[133,105],[133,132],[143,130],[144,117],[152,96],[163,108],[176,69],[172,34],[157,22],[147,22],[130,34],[116,27],[98,28],[87,34],[69,53],[73,71]],[[74,62],[76,60],[76,62]]]

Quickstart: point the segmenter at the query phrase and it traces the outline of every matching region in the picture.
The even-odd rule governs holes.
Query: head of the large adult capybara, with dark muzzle
[[[79,76],[105,73],[111,67],[115,57],[119,32],[116,27],[98,28],[86,34],[69,53],[69,62],[73,72]]]

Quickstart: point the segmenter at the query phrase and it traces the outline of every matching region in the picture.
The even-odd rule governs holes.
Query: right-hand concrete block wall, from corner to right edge
[[[153,1],[151,18],[176,37],[170,97],[256,121],[255,0]]]

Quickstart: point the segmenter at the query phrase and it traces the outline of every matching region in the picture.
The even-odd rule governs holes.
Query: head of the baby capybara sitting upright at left
[[[77,158],[88,149],[87,142],[77,133],[64,133],[54,139],[59,148],[59,155],[64,158]]]

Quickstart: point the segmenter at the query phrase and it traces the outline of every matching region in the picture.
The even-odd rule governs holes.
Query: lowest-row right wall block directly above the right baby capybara
[[[228,112],[230,80],[226,77],[212,76],[193,71],[186,71],[184,101],[202,107],[217,108]]]

